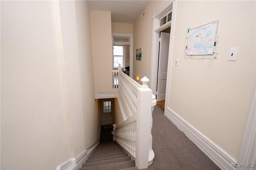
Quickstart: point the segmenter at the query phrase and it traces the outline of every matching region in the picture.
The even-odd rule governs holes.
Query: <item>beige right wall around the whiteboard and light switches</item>
[[[255,1],[177,1],[168,107],[236,160],[255,89]],[[210,8],[209,8],[210,7]],[[196,9],[196,10],[194,10]],[[184,59],[187,27],[219,20],[218,60]],[[227,61],[238,47],[236,61]],[[179,66],[174,66],[179,59]]]

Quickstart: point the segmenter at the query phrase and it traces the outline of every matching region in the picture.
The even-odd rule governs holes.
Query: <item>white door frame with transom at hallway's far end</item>
[[[130,39],[130,43],[119,43],[120,45],[123,44],[130,44],[130,77],[133,77],[133,35],[132,34],[123,34],[123,33],[112,33],[112,46],[114,45],[114,40],[113,40],[113,36],[114,37],[127,37]],[[119,45],[118,43],[116,43],[116,45]]]

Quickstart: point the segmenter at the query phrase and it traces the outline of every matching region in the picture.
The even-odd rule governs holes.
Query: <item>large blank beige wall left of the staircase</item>
[[[86,1],[1,2],[1,169],[56,169],[98,140]]]

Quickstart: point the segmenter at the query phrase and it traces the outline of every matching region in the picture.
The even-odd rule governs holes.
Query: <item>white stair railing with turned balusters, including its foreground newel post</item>
[[[138,169],[148,168],[154,159],[151,129],[155,96],[146,76],[140,85],[119,70],[118,79],[118,102],[123,103],[127,119],[114,128],[114,139],[135,159]]]

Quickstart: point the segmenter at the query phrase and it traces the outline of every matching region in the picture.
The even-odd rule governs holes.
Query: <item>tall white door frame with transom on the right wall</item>
[[[162,27],[159,26],[159,18],[161,18],[170,8],[172,7],[172,21],[169,24],[165,24]],[[172,59],[172,39],[174,33],[174,16],[175,16],[176,0],[170,0],[166,5],[164,5],[158,12],[153,16],[153,33],[152,33],[152,56],[151,56],[151,73],[150,73],[150,88],[152,93],[156,95],[157,90],[157,72],[158,72],[158,52],[159,52],[159,36],[160,32],[164,29],[170,27],[170,44],[169,44],[169,55],[168,55],[168,70],[167,70],[167,80],[166,80],[166,97],[165,97],[165,107],[168,103],[168,93],[169,93],[169,84],[170,84],[170,67]],[[164,109],[164,114],[166,115],[166,108]]]

